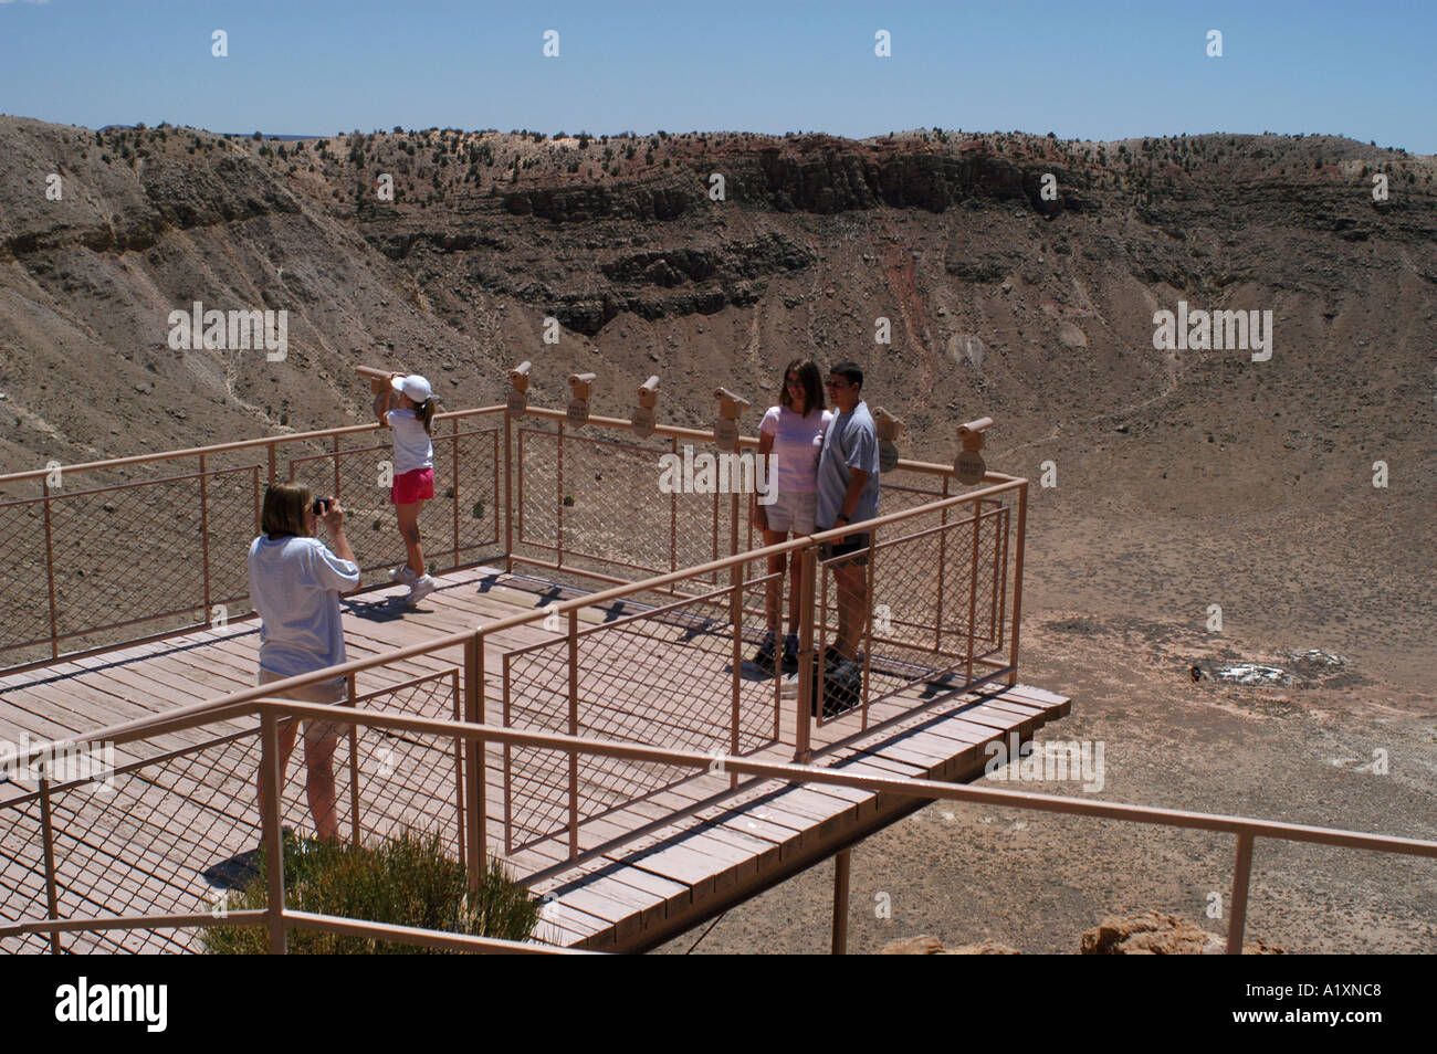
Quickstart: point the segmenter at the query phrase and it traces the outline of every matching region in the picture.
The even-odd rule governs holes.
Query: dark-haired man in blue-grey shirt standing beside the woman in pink
[[[861,527],[878,516],[878,429],[859,398],[864,370],[841,362],[829,370],[828,395],[838,415],[828,426],[818,460],[818,508],[821,531],[849,524]],[[836,666],[854,663],[858,640],[868,620],[868,531],[852,531],[826,546],[823,559],[852,554],[833,566],[838,586],[838,639],[825,656]],[[845,671],[852,673],[854,669]]]

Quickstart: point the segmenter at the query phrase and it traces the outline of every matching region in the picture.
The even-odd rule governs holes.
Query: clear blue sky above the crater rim
[[[0,0],[0,111],[320,135],[1272,131],[1437,154],[1434,39],[1437,3],[1405,0]]]

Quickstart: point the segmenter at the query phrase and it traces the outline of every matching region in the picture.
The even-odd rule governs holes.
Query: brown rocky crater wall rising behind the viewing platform
[[[989,414],[992,465],[1055,461],[1035,530],[1096,517],[1096,553],[1154,517],[1145,537],[1201,538],[1200,566],[1265,517],[1275,553],[1303,553],[1249,569],[1275,589],[1355,561],[1358,584],[1309,615],[1430,607],[1382,579],[1411,560],[1394,538],[1433,538],[1434,172],[1325,136],[276,142],[3,118],[0,465],[364,419],[356,363],[422,370],[451,408],[497,401],[522,359],[559,404],[583,368],[595,411],[622,416],[657,372],[661,416],[707,424],[718,383],[763,406],[789,358],[852,358],[907,421],[907,454],[950,460],[953,426]],[[168,316],[195,300],[286,310],[287,358],[174,350]],[[1155,349],[1154,312],[1180,300],[1270,310],[1272,359]],[[1372,507],[1378,458],[1392,482]],[[1125,553],[1111,576],[1144,546]],[[1065,600],[1105,594],[1089,572],[1068,572]]]

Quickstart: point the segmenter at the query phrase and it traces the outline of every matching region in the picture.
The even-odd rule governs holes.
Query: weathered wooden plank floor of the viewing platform
[[[441,576],[443,586],[420,612],[402,612],[394,603],[401,590],[364,593],[343,605],[345,640],[351,659],[420,643],[444,633],[491,623],[519,610],[532,610],[555,599],[523,587],[494,569],[476,567]],[[583,622],[598,625],[612,613],[585,609]],[[486,638],[486,721],[502,724],[499,659],[507,649],[552,639],[539,625],[517,626]],[[683,668],[680,639],[650,638],[651,648],[673,649],[675,668]],[[95,728],[161,714],[175,706],[213,699],[254,684],[259,653],[256,622],[201,630],[151,642],[105,655],[57,662],[50,666],[0,678],[0,738],[65,738]],[[443,675],[461,665],[463,655],[448,652],[415,656],[411,661],[362,671],[359,695],[399,685],[412,678]],[[726,682],[727,684],[727,682]],[[727,688],[717,689],[727,692]],[[624,695],[615,692],[622,705]],[[914,711],[921,706],[921,711]],[[976,694],[937,692],[920,695],[907,689],[871,711],[871,724],[894,719],[882,731],[842,748],[821,752],[815,762],[841,765],[867,774],[971,780],[983,773],[983,745],[1016,732],[1026,741],[1048,721],[1068,712],[1068,699],[1042,689],[992,686]],[[902,717],[908,714],[908,717]],[[430,714],[441,717],[443,714]],[[901,718],[901,719],[898,719]],[[638,725],[657,722],[645,711]],[[780,709],[779,742],[753,754],[756,760],[792,761],[795,737],[793,706]],[[253,721],[230,722],[177,732],[164,740],[129,744],[116,750],[116,764],[155,758],[167,751],[210,742],[216,735],[246,732]],[[657,725],[655,725],[657,728]],[[815,729],[815,748],[858,731],[856,715]],[[625,738],[645,740],[644,727]],[[664,729],[665,732],[670,729]],[[585,732],[598,734],[598,732]],[[658,742],[660,737],[652,741]],[[398,745],[398,744],[397,744]],[[228,751],[228,752],[226,752]],[[56,854],[62,877],[66,862],[93,857],[73,882],[62,880],[62,913],[114,913],[194,910],[208,906],[213,893],[213,864],[237,857],[256,844],[257,816],[253,810],[253,737],[233,748],[208,752],[198,762],[165,764],[147,773],[135,806],[116,810],[99,800],[75,796],[56,803],[62,827]],[[185,755],[200,757],[200,755]],[[443,752],[428,761],[443,761]],[[489,850],[503,854],[504,788],[503,755],[490,748],[487,768]],[[302,764],[290,765],[287,814],[305,819]],[[365,775],[361,784],[361,816],[424,826],[434,820],[433,807],[453,787],[453,771],[441,764],[433,773],[408,773],[408,790],[424,783],[427,794],[397,796],[384,778]],[[0,784],[0,801],[23,788]],[[204,794],[197,791],[204,790]],[[341,796],[345,784],[341,775]],[[723,801],[717,801],[723,797]],[[450,796],[453,798],[453,796]],[[158,803],[164,804],[158,804]],[[536,883],[547,897],[539,939],[604,951],[642,951],[733,903],[790,877],[894,823],[923,801],[890,800],[839,787],[795,787],[763,783],[729,793],[727,777],[688,778],[642,800],[624,798],[619,807],[582,827],[581,849],[592,850],[609,841],[622,843],[599,852],[578,866],[566,866],[568,843],[539,840],[509,857],[520,875],[549,870],[552,877]],[[141,808],[142,806],[142,808]],[[116,813],[124,816],[116,820]],[[675,813],[690,816],[674,820]],[[343,821],[342,821],[343,824]],[[645,830],[647,829],[647,830]],[[348,830],[348,829],[346,829]],[[644,831],[639,837],[631,837]],[[17,829],[0,831],[0,864],[6,885],[33,892],[39,862],[36,843]],[[43,882],[40,883],[43,905]],[[27,912],[29,913],[29,912]],[[0,916],[13,919],[14,910]],[[6,941],[6,951],[16,951]],[[187,951],[195,938],[187,932],[135,931],[114,935],[75,935],[65,939],[73,951]],[[34,941],[26,949],[39,951]]]

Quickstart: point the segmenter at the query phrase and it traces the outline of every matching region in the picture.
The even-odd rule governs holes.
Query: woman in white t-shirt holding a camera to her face
[[[315,537],[323,521],[333,550]],[[310,501],[308,487],[274,484],[264,491],[260,514],[264,534],[250,546],[250,603],[260,616],[259,684],[310,673],[345,661],[345,633],[339,622],[339,594],[359,587],[359,566],[345,538],[345,510],[335,498]],[[274,698],[297,702],[345,701],[345,679],[292,688]],[[295,721],[279,725],[279,784],[285,785],[289,755],[295,751]],[[305,722],[305,790],[315,816],[315,834],[325,841],[339,837],[335,808],[335,745],[341,728],[329,721]],[[269,788],[263,770],[257,777],[260,816]]]

